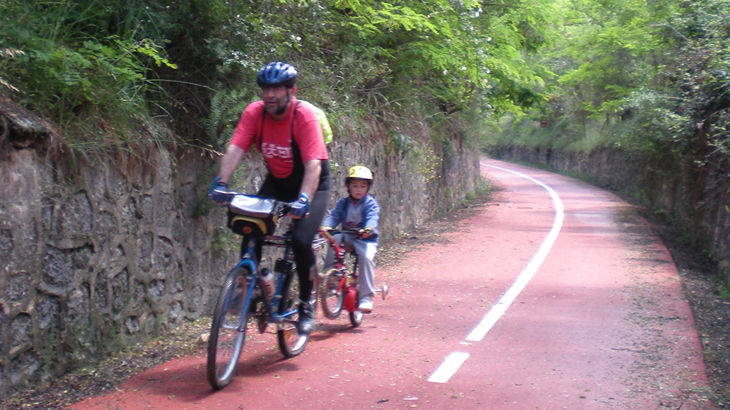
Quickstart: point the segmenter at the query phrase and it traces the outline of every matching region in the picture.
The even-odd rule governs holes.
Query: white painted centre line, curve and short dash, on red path
[[[492,306],[492,309],[489,309],[489,312],[487,312],[483,320],[479,322],[477,327],[474,328],[474,330],[472,330],[469,335],[466,336],[467,341],[481,341],[482,339],[484,339],[484,336],[487,335],[488,331],[497,322],[497,320],[502,317],[504,312],[507,312],[507,308],[509,308],[512,302],[515,301],[515,298],[517,298],[517,296],[527,286],[527,284],[532,279],[532,276],[534,276],[535,272],[537,272],[537,269],[540,267],[540,265],[542,265],[542,262],[545,261],[545,258],[548,257],[548,252],[550,252],[550,249],[553,247],[553,244],[555,244],[556,239],[558,239],[558,233],[560,233],[560,228],[563,226],[563,202],[560,200],[560,197],[558,197],[558,194],[552,188],[548,187],[548,185],[543,184],[537,179],[529,177],[525,174],[521,174],[520,172],[512,171],[510,169],[504,169],[499,166],[490,166],[492,168],[511,172],[512,174],[529,179],[537,185],[540,185],[541,187],[544,187],[546,190],[548,190],[548,193],[550,193],[550,197],[553,198],[553,204],[555,204],[555,220],[553,221],[553,228],[550,229],[550,233],[548,233],[545,241],[542,241],[542,245],[540,245],[537,253],[530,260],[530,263],[528,263],[526,268],[523,269],[523,271],[515,280],[515,283],[510,286],[510,289],[508,289],[507,292],[502,295],[502,298],[499,299],[499,302],[497,302],[496,305]],[[464,364],[468,357],[469,353],[464,352],[456,352],[447,356],[444,360],[444,363],[439,365],[439,368],[437,368],[436,371],[431,374],[431,376],[429,377],[429,382],[448,382],[451,376],[456,374],[458,368],[461,367],[462,364]]]

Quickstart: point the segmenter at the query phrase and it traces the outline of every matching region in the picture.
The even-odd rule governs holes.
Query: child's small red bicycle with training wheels
[[[358,310],[358,258],[355,252],[349,252],[350,258],[346,258],[348,252],[345,247],[340,246],[334,235],[337,233],[345,233],[359,236],[361,234],[357,229],[347,229],[344,231],[327,231],[320,229],[320,244],[328,243],[334,251],[334,266],[328,269],[323,276],[324,280],[319,290],[319,299],[322,304],[322,311],[328,319],[337,319],[342,309],[350,312],[350,323],[353,327],[358,327],[363,321],[363,312]],[[316,246],[316,245],[315,245]],[[350,260],[348,263],[347,259]],[[352,269],[348,270],[347,265],[352,265]],[[388,285],[383,284],[377,293],[383,296],[388,295]]]

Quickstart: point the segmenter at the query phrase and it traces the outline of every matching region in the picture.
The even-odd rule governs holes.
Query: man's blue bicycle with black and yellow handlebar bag
[[[285,357],[299,355],[309,341],[307,335],[296,330],[299,278],[291,251],[291,227],[282,236],[274,235],[278,220],[288,213],[288,204],[239,193],[231,196],[228,228],[244,239],[241,260],[223,281],[210,326],[206,369],[214,390],[231,382],[251,330],[264,333],[269,323],[276,324]],[[284,250],[274,261],[273,270],[259,265],[255,250],[261,241],[262,248],[269,248],[269,252],[273,247]],[[264,260],[261,258],[261,263]]]

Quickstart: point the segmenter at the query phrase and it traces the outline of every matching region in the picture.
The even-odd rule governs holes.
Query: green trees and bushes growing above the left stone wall
[[[283,60],[337,127],[402,139],[456,121],[475,150],[493,114],[536,101],[547,0],[0,1],[0,93],[58,124],[77,154],[135,144],[220,150],[255,73]],[[550,17],[553,16],[553,17]],[[346,120],[345,120],[346,119]],[[165,126],[162,126],[165,125]],[[169,133],[166,130],[172,129]],[[337,131],[336,131],[337,133]],[[408,136],[405,136],[406,138]]]

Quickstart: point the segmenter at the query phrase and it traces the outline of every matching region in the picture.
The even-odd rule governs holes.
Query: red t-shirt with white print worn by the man
[[[293,116],[296,107],[296,116]],[[231,137],[231,144],[248,151],[250,147],[258,145],[258,136],[261,135],[261,118],[264,112],[264,101],[259,100],[248,104],[241,115]],[[309,104],[302,102],[297,106],[296,98],[291,98],[291,107],[288,115],[281,121],[266,114],[264,120],[264,134],[261,136],[261,153],[266,160],[266,168],[274,177],[285,178],[294,169],[294,158],[291,149],[291,120],[294,118],[294,141],[301,152],[301,162],[309,160],[326,160],[327,148],[324,144],[322,126],[315,112]]]

